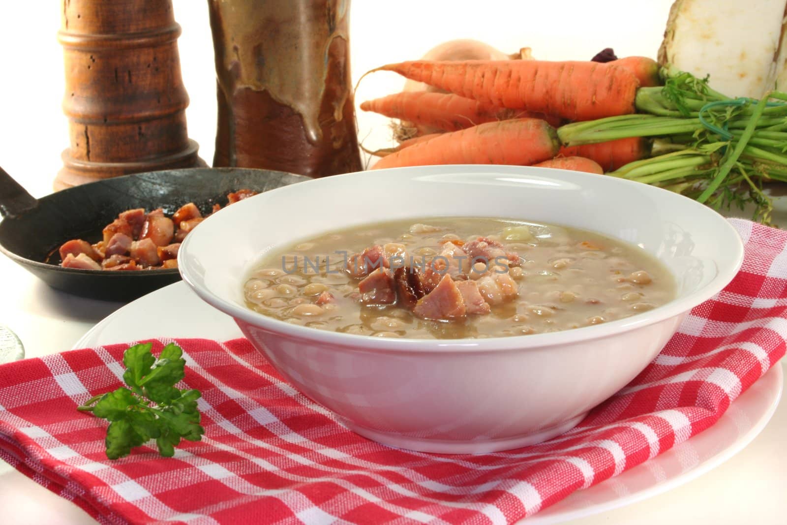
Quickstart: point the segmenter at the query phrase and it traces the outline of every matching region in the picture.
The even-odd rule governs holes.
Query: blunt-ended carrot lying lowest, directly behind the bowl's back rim
[[[531,165],[556,155],[555,128],[540,119],[487,122],[419,142],[380,159],[375,168],[436,164]]]

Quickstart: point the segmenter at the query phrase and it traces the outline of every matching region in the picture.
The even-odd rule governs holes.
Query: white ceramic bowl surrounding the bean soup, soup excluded
[[[243,283],[267,250],[381,220],[490,216],[580,227],[667,264],[678,298],[649,312],[548,334],[424,341],[287,324],[246,308]],[[350,173],[268,191],[211,216],[183,242],[183,279],[232,316],[303,394],[390,446],[483,453],[575,426],[659,353],[694,306],[740,267],[741,239],[704,205],[607,176],[515,166]]]

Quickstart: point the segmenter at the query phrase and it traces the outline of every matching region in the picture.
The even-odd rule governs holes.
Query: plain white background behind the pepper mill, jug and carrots
[[[105,0],[109,1],[109,0]],[[157,1],[157,0],[151,0]],[[249,0],[251,1],[251,0]],[[174,0],[183,27],[179,51],[191,104],[189,135],[209,164],[216,136],[216,83],[205,0]],[[656,57],[671,0],[354,0],[350,11],[353,84],[388,62],[423,56],[450,39],[479,39],[505,53],[530,47],[544,60],[589,60],[604,47],[619,56]],[[61,2],[5,0],[0,10],[0,166],[36,197],[52,190],[68,146],[62,113]],[[399,91],[379,72],[360,84],[356,103]],[[358,113],[372,149],[390,140],[388,120]]]

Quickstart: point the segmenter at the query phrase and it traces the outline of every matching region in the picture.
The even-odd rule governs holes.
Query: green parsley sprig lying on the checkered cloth
[[[77,407],[83,412],[109,420],[106,429],[106,456],[110,460],[127,456],[131,449],[156,440],[161,456],[172,457],[181,439],[200,441],[205,433],[200,425],[198,390],[179,390],[183,379],[183,349],[174,343],[153,357],[151,343],[131,346],[123,354],[128,388],[100,394]]]

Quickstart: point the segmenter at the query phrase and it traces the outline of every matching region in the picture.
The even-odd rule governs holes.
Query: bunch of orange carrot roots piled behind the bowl
[[[564,147],[556,127],[565,122],[626,115],[640,87],[660,83],[645,57],[593,61],[408,61],[392,71],[447,93],[403,92],[361,109],[442,133],[383,150],[374,168],[434,164],[540,165],[603,173],[648,157],[649,142],[630,137]]]

